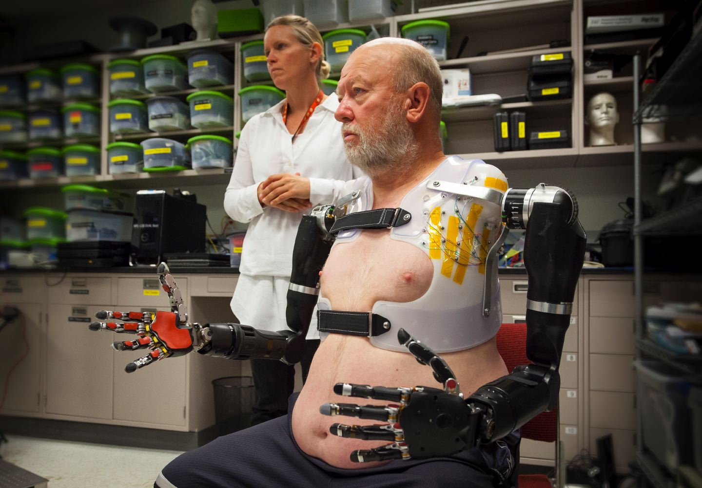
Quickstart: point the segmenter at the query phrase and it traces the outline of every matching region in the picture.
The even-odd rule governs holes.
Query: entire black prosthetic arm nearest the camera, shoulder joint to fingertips
[[[464,399],[446,362],[400,330],[399,343],[421,364],[432,367],[443,388],[336,384],[337,395],[394,402],[385,407],[335,403],[320,407],[326,415],[386,422],[375,426],[334,423],[330,427],[329,431],[340,437],[393,441],[376,449],[352,452],[352,461],[456,454],[503,438],[557,405],[558,365],[585,255],[585,233],[577,219],[577,203],[564,189],[541,184],[531,189],[508,189],[501,204],[506,227],[527,229],[527,357],[533,364],[517,366],[511,374]]]

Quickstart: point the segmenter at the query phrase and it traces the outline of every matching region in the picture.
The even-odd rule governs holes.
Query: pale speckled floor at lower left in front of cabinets
[[[48,488],[152,488],[180,451],[7,435],[0,455],[49,480]]]

